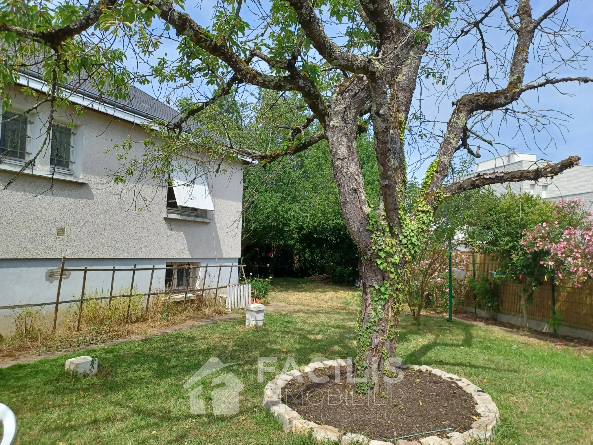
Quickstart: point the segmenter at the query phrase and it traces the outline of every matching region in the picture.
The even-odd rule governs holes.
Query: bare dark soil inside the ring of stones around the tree
[[[471,394],[431,373],[406,370],[391,394],[373,395],[371,390],[364,395],[357,394],[355,383],[348,382],[345,367],[338,382],[334,372],[333,367],[314,371],[316,377],[328,377],[326,383],[314,382],[307,373],[301,375],[303,383],[292,379],[282,388],[283,402],[306,420],[374,440],[444,428],[452,429],[439,433],[442,436],[452,431],[463,433],[479,417]]]

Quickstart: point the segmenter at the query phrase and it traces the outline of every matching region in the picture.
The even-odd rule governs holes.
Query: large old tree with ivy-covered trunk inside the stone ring
[[[327,140],[340,209],[362,257],[356,369],[366,383],[358,389],[380,391],[389,384],[382,377],[393,373],[407,259],[425,241],[435,209],[457,193],[554,176],[579,161],[569,157],[553,166],[447,182],[455,153],[477,155],[476,141],[492,143],[487,137],[495,122],[492,116],[514,117],[518,128],[528,123],[537,131],[542,112],[530,107],[515,110],[515,104],[528,102],[525,93],[547,85],[592,81],[571,75],[586,62],[589,42],[566,23],[568,0],[546,1],[538,14],[530,0],[271,0],[256,2],[253,8],[244,3],[216,2],[212,19],[203,14],[198,23],[183,11],[181,0],[100,0],[84,5],[2,0],[0,40],[6,49],[1,86],[15,85],[34,56],[42,61],[52,109],[68,100],[69,90],[63,85],[78,67],[81,73],[83,67],[84,72],[103,69],[96,82],[103,94],[110,88],[120,94],[129,81],[169,84],[171,94],[200,84],[214,87],[213,96],[195,101],[174,122],[154,123],[152,145],[147,142],[140,158],[130,160],[129,147],[122,147],[122,160],[127,161],[116,177],[119,183],[142,175],[164,181],[174,167],[172,159],[184,152],[266,162]],[[330,32],[337,29],[334,36],[327,33],[327,24],[332,25]],[[482,31],[486,27],[490,33]],[[170,39],[177,45],[174,54],[157,52]],[[504,50],[492,50],[499,45]],[[457,46],[483,51],[466,56],[451,50]],[[118,47],[126,47],[125,54],[117,53]],[[530,56],[535,62],[530,66],[538,67],[531,78],[525,75]],[[131,62],[148,60],[148,73],[131,73],[126,67],[135,63],[124,63],[126,57],[135,59]],[[447,89],[452,66],[466,77]],[[560,69],[567,74],[558,75]],[[436,155],[422,180],[421,199],[406,209],[406,129],[414,128],[417,113],[410,110],[415,97],[426,97],[415,96],[426,80],[452,101],[452,110],[444,131],[430,134]],[[205,123],[207,131],[180,131],[184,122],[221,97],[238,90],[251,94],[256,87],[295,94],[305,104],[299,110],[304,119],[280,132],[280,150],[262,151],[263,145],[246,147],[228,139],[227,145],[222,142],[227,129],[217,126],[216,119]],[[4,106],[8,105],[5,94]],[[371,131],[374,141],[380,191],[375,208],[366,195],[356,147],[361,131]],[[412,136],[420,138],[418,132]]]

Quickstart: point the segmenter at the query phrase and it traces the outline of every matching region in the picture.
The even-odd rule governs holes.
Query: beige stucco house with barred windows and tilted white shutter
[[[40,92],[47,88],[31,71],[21,75],[20,84]],[[0,307],[55,301],[63,256],[66,268],[238,264],[243,165],[222,160],[215,174],[199,158],[183,158],[188,168],[205,174],[193,185],[184,184],[180,172],[173,174],[173,187],[164,181],[148,185],[149,208],[138,211],[132,205],[133,189],[122,193],[114,186],[111,175],[120,164],[116,153],[106,149],[126,138],[144,141],[143,123],[155,118],[170,122],[178,113],[137,88],[125,103],[98,98],[95,92],[81,87],[69,92],[72,105],[56,112],[51,150],[5,190],[1,189],[42,146],[49,107],[43,104],[26,118],[4,122],[39,100],[14,90],[12,109],[2,116]],[[77,104],[84,107],[82,116],[75,112]],[[136,144],[132,155],[141,154],[143,148]],[[186,271],[156,271],[152,289],[183,282]],[[236,267],[222,268],[221,282],[236,283],[237,272]],[[136,274],[139,292],[147,291],[148,275]],[[61,299],[79,298],[81,280],[78,272],[65,275]],[[110,272],[90,273],[86,289],[105,294],[110,284]],[[126,286],[130,273],[115,274],[114,289]],[[6,329],[1,320],[7,314],[0,310],[0,332]]]

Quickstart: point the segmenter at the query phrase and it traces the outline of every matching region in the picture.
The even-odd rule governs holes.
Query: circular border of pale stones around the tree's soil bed
[[[466,445],[468,443],[487,442],[493,435],[493,430],[500,422],[500,414],[496,403],[492,400],[489,394],[471,383],[464,377],[449,374],[440,369],[431,368],[430,366],[422,365],[401,365],[401,369],[412,369],[415,371],[422,371],[424,373],[432,373],[440,376],[444,380],[457,383],[461,389],[470,393],[476,402],[476,411],[480,414],[480,418],[471,424],[471,430],[464,433],[447,434],[447,438],[437,436],[429,436],[420,440],[420,442],[410,440],[396,440],[395,442],[385,442],[381,440],[369,440],[368,437],[362,434],[342,433],[337,428],[330,425],[318,425],[314,422],[302,419],[297,411],[291,409],[288,405],[282,403],[282,387],[292,380],[295,376],[308,373],[311,370],[318,368],[329,368],[331,366],[348,366],[351,363],[339,358],[337,360],[327,360],[324,362],[317,361],[310,363],[307,366],[301,366],[299,370],[292,370],[285,374],[278,374],[275,379],[270,380],[264,388],[263,407],[278,418],[282,428],[286,433],[291,431],[294,434],[302,434],[308,436],[313,430],[313,438],[321,443],[324,441],[337,441],[341,445]]]

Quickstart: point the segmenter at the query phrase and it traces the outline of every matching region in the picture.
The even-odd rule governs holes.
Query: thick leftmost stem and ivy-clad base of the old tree
[[[369,229],[371,208],[366,201],[364,178],[356,150],[356,119],[369,97],[368,82],[363,76],[346,80],[331,100],[327,126],[334,177],[340,196],[340,207],[346,227],[356,242],[361,256],[359,271],[362,277],[362,310],[358,326],[357,377],[365,378],[357,389],[385,388],[386,375],[394,376],[399,307],[391,294],[386,301],[377,298],[375,287],[390,282],[388,272],[381,271],[378,255],[373,250],[372,231]],[[378,303],[380,301],[380,303]]]

